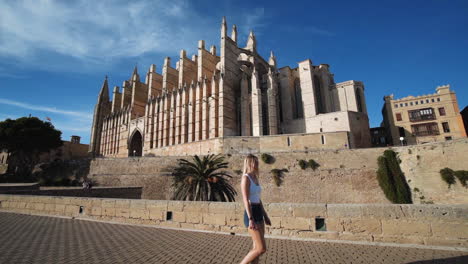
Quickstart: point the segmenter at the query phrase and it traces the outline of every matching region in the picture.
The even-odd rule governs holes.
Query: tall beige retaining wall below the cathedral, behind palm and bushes
[[[261,149],[275,158],[271,165],[260,161],[260,181],[264,190],[262,198],[265,202],[389,203],[376,179],[377,158],[386,148],[272,152],[275,147],[281,149],[284,144],[281,140],[275,141],[275,138],[277,137],[269,137],[268,140],[257,142]],[[304,142],[303,139],[291,137],[290,142],[300,145]],[[233,176],[231,182],[240,193],[239,171],[243,169],[243,153],[249,153],[258,148],[258,145],[249,138],[242,138],[241,141],[226,138],[224,142],[227,150],[225,157]],[[468,139],[397,147],[394,150],[402,160],[401,168],[413,192],[414,203],[468,203],[468,188],[462,187],[458,181],[448,188],[439,174],[439,170],[444,167],[468,170],[465,162]],[[142,186],[142,198],[167,200],[172,194],[169,177],[171,167],[176,165],[178,158],[180,157],[94,159],[89,177],[101,186]],[[298,160],[301,159],[313,159],[320,167],[315,171],[310,168],[302,170],[298,165]],[[274,184],[272,169],[289,171],[284,174],[280,187]],[[419,192],[414,188],[419,189]],[[424,199],[420,199],[423,196]]]

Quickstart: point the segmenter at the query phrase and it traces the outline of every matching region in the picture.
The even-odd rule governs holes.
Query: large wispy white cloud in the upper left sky
[[[197,31],[184,27],[193,18],[187,9],[180,0],[1,1],[0,56],[27,61],[52,52],[99,63],[176,52],[186,40],[196,47]]]

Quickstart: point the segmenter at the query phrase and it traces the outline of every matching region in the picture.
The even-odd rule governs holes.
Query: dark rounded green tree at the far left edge
[[[7,180],[31,181],[39,154],[62,146],[62,132],[37,117],[0,122],[0,149],[9,153]]]

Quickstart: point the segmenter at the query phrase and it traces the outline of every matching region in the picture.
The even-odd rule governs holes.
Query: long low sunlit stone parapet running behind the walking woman
[[[265,204],[267,235],[468,248],[468,205]],[[246,233],[240,203],[0,195],[0,211]],[[324,229],[317,229],[323,219]],[[323,230],[323,231],[321,231]]]

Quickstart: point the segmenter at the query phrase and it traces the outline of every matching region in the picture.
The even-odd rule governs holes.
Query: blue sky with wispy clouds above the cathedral
[[[240,43],[253,29],[278,65],[310,58],[335,81],[365,85],[371,126],[383,96],[434,93],[450,84],[468,104],[468,1],[54,1],[0,0],[0,120],[29,114],[89,142],[104,76],[121,86],[138,65],[219,47],[226,16]],[[229,30],[230,31],[230,30]],[[219,49],[218,49],[219,50]],[[461,110],[460,109],[460,110]]]

